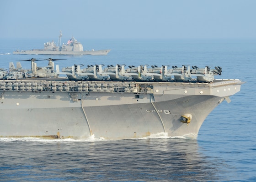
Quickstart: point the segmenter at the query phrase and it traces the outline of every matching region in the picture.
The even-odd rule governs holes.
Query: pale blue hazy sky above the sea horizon
[[[256,0],[0,0],[0,38],[60,30],[77,39],[256,38]]]

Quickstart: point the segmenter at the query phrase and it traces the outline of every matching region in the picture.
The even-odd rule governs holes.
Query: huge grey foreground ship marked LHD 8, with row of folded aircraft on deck
[[[130,139],[167,133],[197,138],[208,114],[243,84],[213,78],[220,67],[122,67],[81,71],[75,65],[62,69],[72,79],[1,80],[0,136]]]

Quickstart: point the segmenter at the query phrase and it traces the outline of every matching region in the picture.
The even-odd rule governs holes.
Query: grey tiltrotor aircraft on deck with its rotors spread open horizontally
[[[38,67],[37,63],[35,61],[42,61],[42,60],[48,60],[48,66],[44,67]],[[59,70],[59,65],[56,66],[56,71],[54,70],[54,63],[53,61],[56,60],[63,60],[63,59],[29,59],[29,60],[21,60],[21,61],[30,61],[31,62],[31,70],[25,72],[26,77],[58,77],[59,74],[57,74],[57,70]]]

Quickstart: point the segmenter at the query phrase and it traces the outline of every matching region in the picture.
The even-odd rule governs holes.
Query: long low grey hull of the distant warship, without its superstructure
[[[32,55],[107,55],[111,51],[97,50],[97,51],[47,51],[47,50],[30,50],[30,51],[14,51],[13,54],[32,54]]]

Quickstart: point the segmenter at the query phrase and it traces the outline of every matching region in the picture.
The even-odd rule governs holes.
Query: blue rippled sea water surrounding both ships
[[[241,91],[210,113],[196,140],[165,133],[130,140],[0,139],[3,182],[255,182],[256,181],[256,40],[141,39],[79,40],[85,50],[109,49],[107,56],[12,55],[39,49],[51,40],[1,40],[0,68],[31,58],[74,64],[221,66],[220,79],[240,79]],[[57,40],[55,40],[57,42]],[[21,61],[30,68],[29,61]],[[38,66],[47,65],[38,61]],[[15,113],[14,113],[15,114]]]

